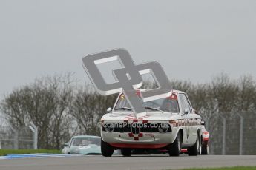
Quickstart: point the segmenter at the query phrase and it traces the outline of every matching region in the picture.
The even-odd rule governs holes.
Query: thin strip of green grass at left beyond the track
[[[61,154],[59,150],[49,149],[0,149],[0,156],[7,154],[36,154],[36,153],[48,153],[48,154]]]

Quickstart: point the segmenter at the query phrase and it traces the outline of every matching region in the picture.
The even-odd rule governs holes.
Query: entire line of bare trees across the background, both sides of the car
[[[73,73],[36,78],[13,89],[0,103],[1,113],[13,127],[31,121],[39,129],[39,149],[60,149],[73,135],[99,135],[98,122],[116,95],[99,95],[91,84],[79,84]],[[188,93],[203,117],[256,109],[256,83],[252,76],[231,79],[220,74],[205,84],[172,80],[173,89]],[[146,83],[144,87],[154,86]]]

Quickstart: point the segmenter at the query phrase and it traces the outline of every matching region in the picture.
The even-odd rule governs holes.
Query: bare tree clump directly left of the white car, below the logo
[[[100,135],[99,121],[106,113],[108,107],[112,107],[117,95],[99,95],[93,87],[85,84],[78,89],[76,96],[70,105],[70,115],[77,123],[77,133],[80,135]]]

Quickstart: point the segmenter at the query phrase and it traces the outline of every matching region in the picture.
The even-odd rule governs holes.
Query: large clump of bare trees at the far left
[[[37,78],[5,96],[1,112],[16,129],[32,121],[39,129],[39,148],[59,149],[72,131],[69,106],[75,85],[71,73]]]

